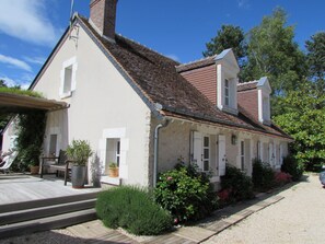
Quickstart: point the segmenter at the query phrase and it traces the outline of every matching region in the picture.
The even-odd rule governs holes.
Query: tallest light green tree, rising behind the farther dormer
[[[285,10],[277,8],[264,16],[260,25],[248,33],[247,65],[242,77],[245,81],[268,77],[272,96],[294,90],[306,74],[305,59],[293,40],[294,27],[287,26]]]

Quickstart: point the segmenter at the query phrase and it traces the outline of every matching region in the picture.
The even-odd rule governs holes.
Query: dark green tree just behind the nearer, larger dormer
[[[243,65],[243,58],[246,56],[245,35],[241,27],[233,25],[222,25],[217,36],[206,43],[207,50],[202,54],[205,57],[220,54],[222,50],[232,48],[240,66]]]

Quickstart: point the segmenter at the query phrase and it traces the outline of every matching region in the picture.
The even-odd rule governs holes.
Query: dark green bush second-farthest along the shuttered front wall
[[[255,159],[252,179],[255,189],[268,190],[275,186],[275,172],[268,163]]]

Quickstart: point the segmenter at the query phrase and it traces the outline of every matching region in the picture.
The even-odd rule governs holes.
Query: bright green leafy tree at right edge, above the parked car
[[[292,152],[306,170],[325,162],[325,95],[317,95],[311,83],[303,83],[280,101],[283,114],[274,118],[294,138]]]

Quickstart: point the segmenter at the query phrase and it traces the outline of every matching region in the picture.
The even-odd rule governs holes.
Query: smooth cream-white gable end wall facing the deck
[[[76,91],[61,100],[62,65],[73,57],[78,63]],[[121,182],[148,185],[150,109],[82,28],[77,44],[67,39],[60,47],[34,91],[70,104],[68,109],[49,113],[47,117],[46,137],[50,131],[59,131],[60,149],[66,149],[72,139],[85,139],[103,163],[104,147],[100,143],[105,140],[104,131],[124,129]]]

